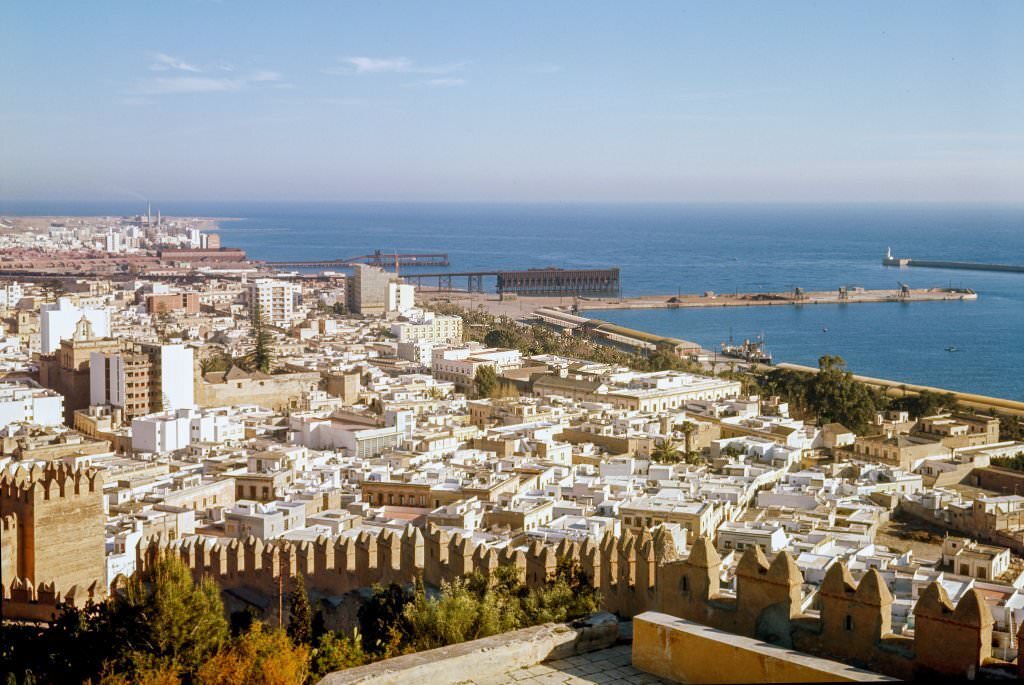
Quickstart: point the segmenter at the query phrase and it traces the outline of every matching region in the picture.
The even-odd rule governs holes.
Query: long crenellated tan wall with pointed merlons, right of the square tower
[[[817,614],[805,614],[804,579],[788,553],[769,563],[760,549],[748,550],[736,568],[736,592],[726,593],[720,588],[721,558],[709,540],[697,541],[688,558],[677,559],[660,529],[607,534],[600,543],[535,543],[514,551],[433,526],[425,533],[409,526],[401,533],[364,532],[313,543],[250,538],[226,545],[167,545],[158,539],[139,548],[140,568],[167,550],[180,555],[197,577],[209,574],[224,588],[247,587],[270,596],[281,576],[297,573],[310,589],[341,595],[418,576],[438,586],[505,564],[537,587],[554,573],[559,559],[571,558],[600,590],[604,608],[623,616],[662,611],[899,678],[963,676],[993,661],[992,616],[976,591],[953,607],[941,586],[930,586],[914,611],[915,636],[897,636],[891,632],[892,595],[874,569],[858,585],[842,563],[834,564],[818,592]]]

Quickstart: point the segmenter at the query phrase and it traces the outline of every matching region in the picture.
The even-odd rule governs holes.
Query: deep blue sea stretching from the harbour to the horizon
[[[381,250],[445,252],[453,271],[617,266],[625,295],[971,288],[976,301],[595,315],[709,349],[763,336],[776,361],[840,355],[858,374],[1024,400],[1024,273],[882,266],[890,248],[918,259],[1024,264],[1022,205],[174,202],[159,209],[230,219],[220,224],[222,244],[256,259]],[[138,202],[0,203],[0,215],[144,210]]]

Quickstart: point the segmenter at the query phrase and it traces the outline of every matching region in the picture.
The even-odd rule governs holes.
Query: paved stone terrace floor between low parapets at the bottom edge
[[[637,671],[630,645],[617,645],[579,656],[516,669],[501,676],[462,681],[464,685],[654,685],[670,683]]]

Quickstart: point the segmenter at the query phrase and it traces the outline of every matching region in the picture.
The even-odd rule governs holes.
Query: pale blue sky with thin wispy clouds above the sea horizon
[[[0,10],[0,199],[1024,201],[1021,2]]]

